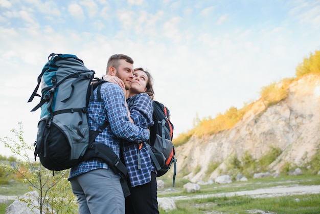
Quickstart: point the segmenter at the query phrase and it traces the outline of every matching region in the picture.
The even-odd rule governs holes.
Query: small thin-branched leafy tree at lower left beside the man
[[[19,130],[11,130],[18,142],[9,137],[0,138],[5,147],[9,148],[11,153],[21,159],[17,159],[13,164],[1,164],[5,170],[20,175],[24,183],[30,184],[29,191],[39,192],[37,197],[38,204],[33,204],[31,198],[19,198],[26,202],[31,209],[39,209],[40,213],[75,213],[77,212],[75,196],[72,193],[71,186],[67,181],[68,170],[53,172],[44,168],[39,162],[31,161],[29,154],[34,146],[24,140],[22,123],[19,122]],[[53,211],[54,210],[54,211]]]

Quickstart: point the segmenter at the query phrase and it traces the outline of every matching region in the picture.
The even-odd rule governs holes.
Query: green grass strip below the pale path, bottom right
[[[276,198],[220,197],[176,201],[177,210],[161,213],[248,213],[263,210],[274,213],[320,213],[320,196],[303,195]],[[213,212],[215,211],[215,212]]]

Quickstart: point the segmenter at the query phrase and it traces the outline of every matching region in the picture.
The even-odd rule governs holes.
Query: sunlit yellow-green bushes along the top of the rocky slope
[[[315,51],[314,54],[310,53],[309,57],[303,59],[296,67],[295,78],[285,78],[279,82],[272,82],[271,84],[262,87],[260,91],[261,99],[264,101],[265,108],[270,105],[279,103],[285,99],[288,95],[288,86],[295,79],[300,78],[305,74],[320,74],[320,51]],[[202,137],[204,135],[213,135],[215,133],[222,132],[224,130],[232,129],[237,122],[247,113],[252,104],[244,104],[243,108],[237,109],[232,106],[225,111],[224,114],[217,114],[215,118],[207,117],[200,120],[197,116],[194,120],[194,127],[187,133],[181,133],[179,136],[173,139],[175,146],[183,145],[195,135],[196,137]],[[196,121],[196,123],[195,123]]]

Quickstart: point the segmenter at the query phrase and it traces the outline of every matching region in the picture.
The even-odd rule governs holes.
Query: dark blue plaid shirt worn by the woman
[[[129,106],[129,111],[134,124],[143,129],[147,129],[147,127],[153,125],[153,107],[149,95],[140,93],[133,97],[129,97],[127,103],[129,103],[131,99],[134,99],[134,102]],[[141,149],[139,149],[139,147],[140,144],[132,144],[127,141],[123,142],[123,157],[124,162],[129,169],[129,179],[132,187],[150,182],[151,171],[154,167],[151,162],[147,143],[143,142]],[[141,169],[138,168],[138,155],[141,160]]]

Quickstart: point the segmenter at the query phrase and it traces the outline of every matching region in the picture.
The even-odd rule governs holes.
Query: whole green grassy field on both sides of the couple
[[[166,188],[158,191],[158,197],[197,196],[269,188],[276,186],[320,185],[320,176],[281,176],[279,178],[249,179],[247,182],[231,184],[202,185],[200,191],[188,194],[183,189],[187,180],[176,179],[175,188],[171,188],[172,180],[165,179]],[[28,185],[12,182],[2,185],[0,195],[23,195]],[[8,201],[0,204],[0,214],[5,213]],[[161,214],[210,214],[210,213],[320,213],[320,195],[307,194],[298,196],[283,196],[273,198],[251,198],[249,196],[209,197],[175,201],[177,209],[169,212],[160,210]]]

